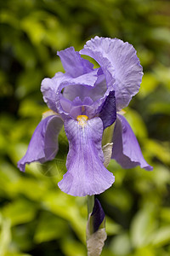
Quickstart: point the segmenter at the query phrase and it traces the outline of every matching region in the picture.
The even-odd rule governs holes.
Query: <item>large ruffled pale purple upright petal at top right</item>
[[[95,37],[85,44],[80,53],[99,63],[108,88],[115,90],[117,110],[127,107],[132,96],[138,93],[143,76],[133,46],[117,38]]]

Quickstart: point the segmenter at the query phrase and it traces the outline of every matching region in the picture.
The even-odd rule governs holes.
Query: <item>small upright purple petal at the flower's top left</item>
[[[74,47],[60,50],[58,55],[65,68],[65,73],[73,78],[93,71],[94,65],[88,60],[82,59],[81,55],[78,51],[75,51]]]

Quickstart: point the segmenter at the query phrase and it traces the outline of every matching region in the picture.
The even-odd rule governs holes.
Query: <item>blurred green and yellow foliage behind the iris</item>
[[[108,239],[103,256],[170,255],[170,2],[5,0],[0,3],[0,255],[86,255],[86,198],[57,187],[68,143],[51,163],[17,169],[47,109],[40,84],[63,71],[56,51],[95,35],[133,44],[144,67],[126,117],[153,172],[123,170],[98,195]]]

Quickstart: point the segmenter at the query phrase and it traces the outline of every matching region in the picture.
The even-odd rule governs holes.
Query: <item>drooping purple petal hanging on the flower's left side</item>
[[[26,164],[34,161],[43,163],[53,160],[58,151],[58,135],[63,121],[54,114],[42,119],[34,131],[25,156],[18,162],[20,171],[25,171]]]

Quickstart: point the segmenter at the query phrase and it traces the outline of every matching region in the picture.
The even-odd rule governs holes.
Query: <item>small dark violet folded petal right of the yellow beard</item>
[[[109,96],[107,96],[104,106],[99,113],[100,119],[102,119],[104,124],[104,129],[112,125],[116,120],[116,99],[115,91],[110,91]]]

